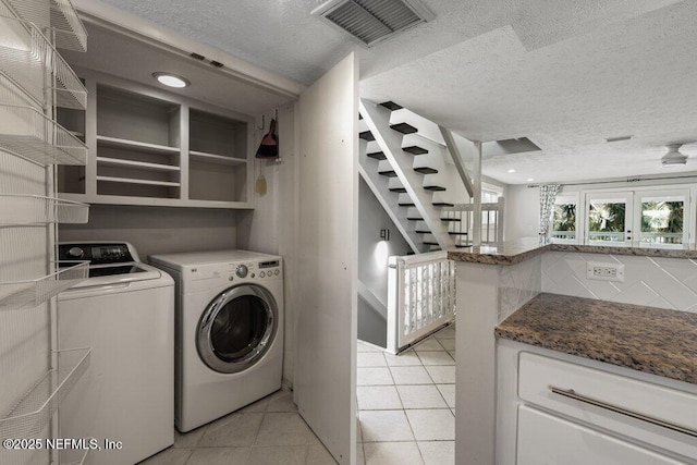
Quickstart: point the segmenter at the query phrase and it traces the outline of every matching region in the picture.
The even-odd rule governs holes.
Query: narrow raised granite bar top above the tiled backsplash
[[[597,245],[548,244],[539,241],[504,242],[497,246],[448,250],[448,258],[485,265],[515,265],[545,252],[578,252],[585,254],[634,255],[637,257],[697,258],[697,250],[675,248],[609,247]]]

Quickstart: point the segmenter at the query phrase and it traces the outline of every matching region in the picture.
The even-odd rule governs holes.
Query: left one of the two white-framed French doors
[[[633,192],[586,194],[585,243],[588,245],[632,246]]]

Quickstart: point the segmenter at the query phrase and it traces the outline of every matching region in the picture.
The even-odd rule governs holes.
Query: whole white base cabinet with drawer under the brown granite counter
[[[499,341],[497,463],[697,463],[697,386]]]

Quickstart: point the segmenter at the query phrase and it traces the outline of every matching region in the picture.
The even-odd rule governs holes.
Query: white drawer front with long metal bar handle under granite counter
[[[697,395],[523,352],[518,396],[697,460]]]

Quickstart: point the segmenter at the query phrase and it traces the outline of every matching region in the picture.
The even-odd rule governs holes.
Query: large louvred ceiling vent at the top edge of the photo
[[[368,47],[435,17],[418,0],[331,0],[313,14]]]

